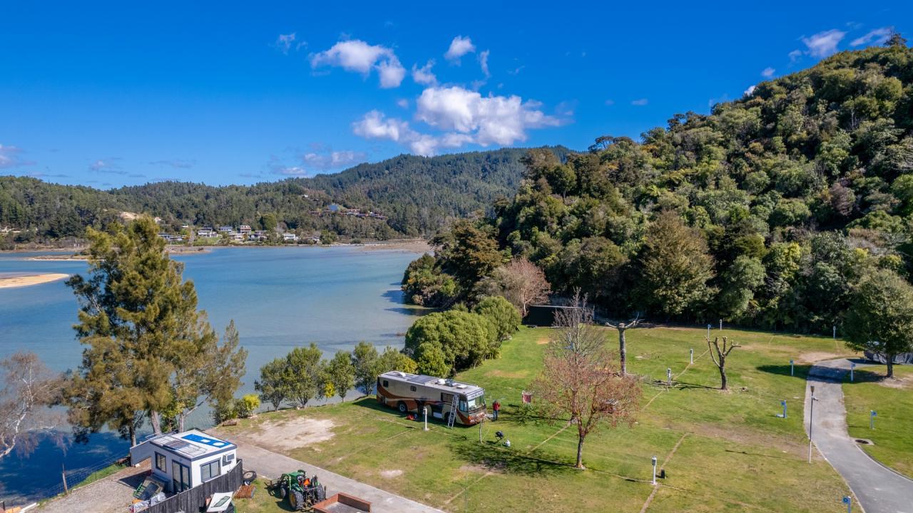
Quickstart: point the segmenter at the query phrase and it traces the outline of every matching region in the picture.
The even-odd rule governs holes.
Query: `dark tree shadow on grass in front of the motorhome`
[[[560,461],[557,455],[540,449],[526,455],[495,442],[479,444],[456,440],[448,447],[458,458],[492,472],[519,476],[555,476],[576,471],[570,464],[557,463]]]

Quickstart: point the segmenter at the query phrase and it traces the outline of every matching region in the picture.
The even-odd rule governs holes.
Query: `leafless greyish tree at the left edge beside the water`
[[[50,410],[58,399],[62,378],[50,372],[35,353],[17,352],[0,361],[0,458],[14,449],[31,452],[43,436],[58,444],[63,437],[58,426],[63,418]]]

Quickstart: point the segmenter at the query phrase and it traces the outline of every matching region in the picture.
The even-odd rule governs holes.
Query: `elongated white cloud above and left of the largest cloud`
[[[392,49],[369,45],[359,39],[340,41],[329,50],[310,56],[310,66],[337,66],[363,76],[376,69],[383,89],[399,87],[405,77],[405,68]]]

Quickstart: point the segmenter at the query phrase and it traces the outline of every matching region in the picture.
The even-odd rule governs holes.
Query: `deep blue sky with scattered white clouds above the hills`
[[[0,174],[257,183],[403,152],[585,149],[834,51],[879,2],[7,2]]]

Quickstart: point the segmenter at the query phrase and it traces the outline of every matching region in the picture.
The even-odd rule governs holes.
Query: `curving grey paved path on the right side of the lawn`
[[[866,513],[913,513],[913,480],[866,455],[846,432],[841,383],[849,368],[845,359],[813,365],[805,389],[805,431],[811,404],[808,387],[814,385],[814,445],[844,477],[862,508]]]

